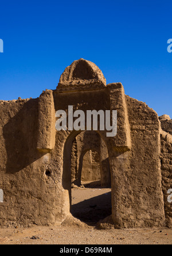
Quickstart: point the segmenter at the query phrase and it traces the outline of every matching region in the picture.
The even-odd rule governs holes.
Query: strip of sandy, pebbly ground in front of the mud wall
[[[162,231],[162,232],[160,232]],[[37,236],[38,239],[31,239]],[[0,229],[0,244],[171,244],[172,229],[32,227]]]

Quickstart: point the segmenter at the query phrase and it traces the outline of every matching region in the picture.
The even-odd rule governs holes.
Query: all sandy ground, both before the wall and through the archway
[[[101,189],[94,183],[83,189],[72,189],[71,211],[73,216],[88,225],[85,228],[36,225],[30,228],[1,228],[0,244],[172,243],[172,229],[167,228],[97,230],[95,223],[111,214],[111,189]]]

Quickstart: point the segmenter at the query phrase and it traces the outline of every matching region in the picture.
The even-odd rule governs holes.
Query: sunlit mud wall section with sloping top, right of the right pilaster
[[[131,223],[147,226],[164,221],[160,154],[160,123],[157,113],[145,103],[126,96],[131,127],[128,166],[128,208],[133,204]],[[130,174],[129,174],[130,172]],[[127,216],[129,219],[129,215]]]

